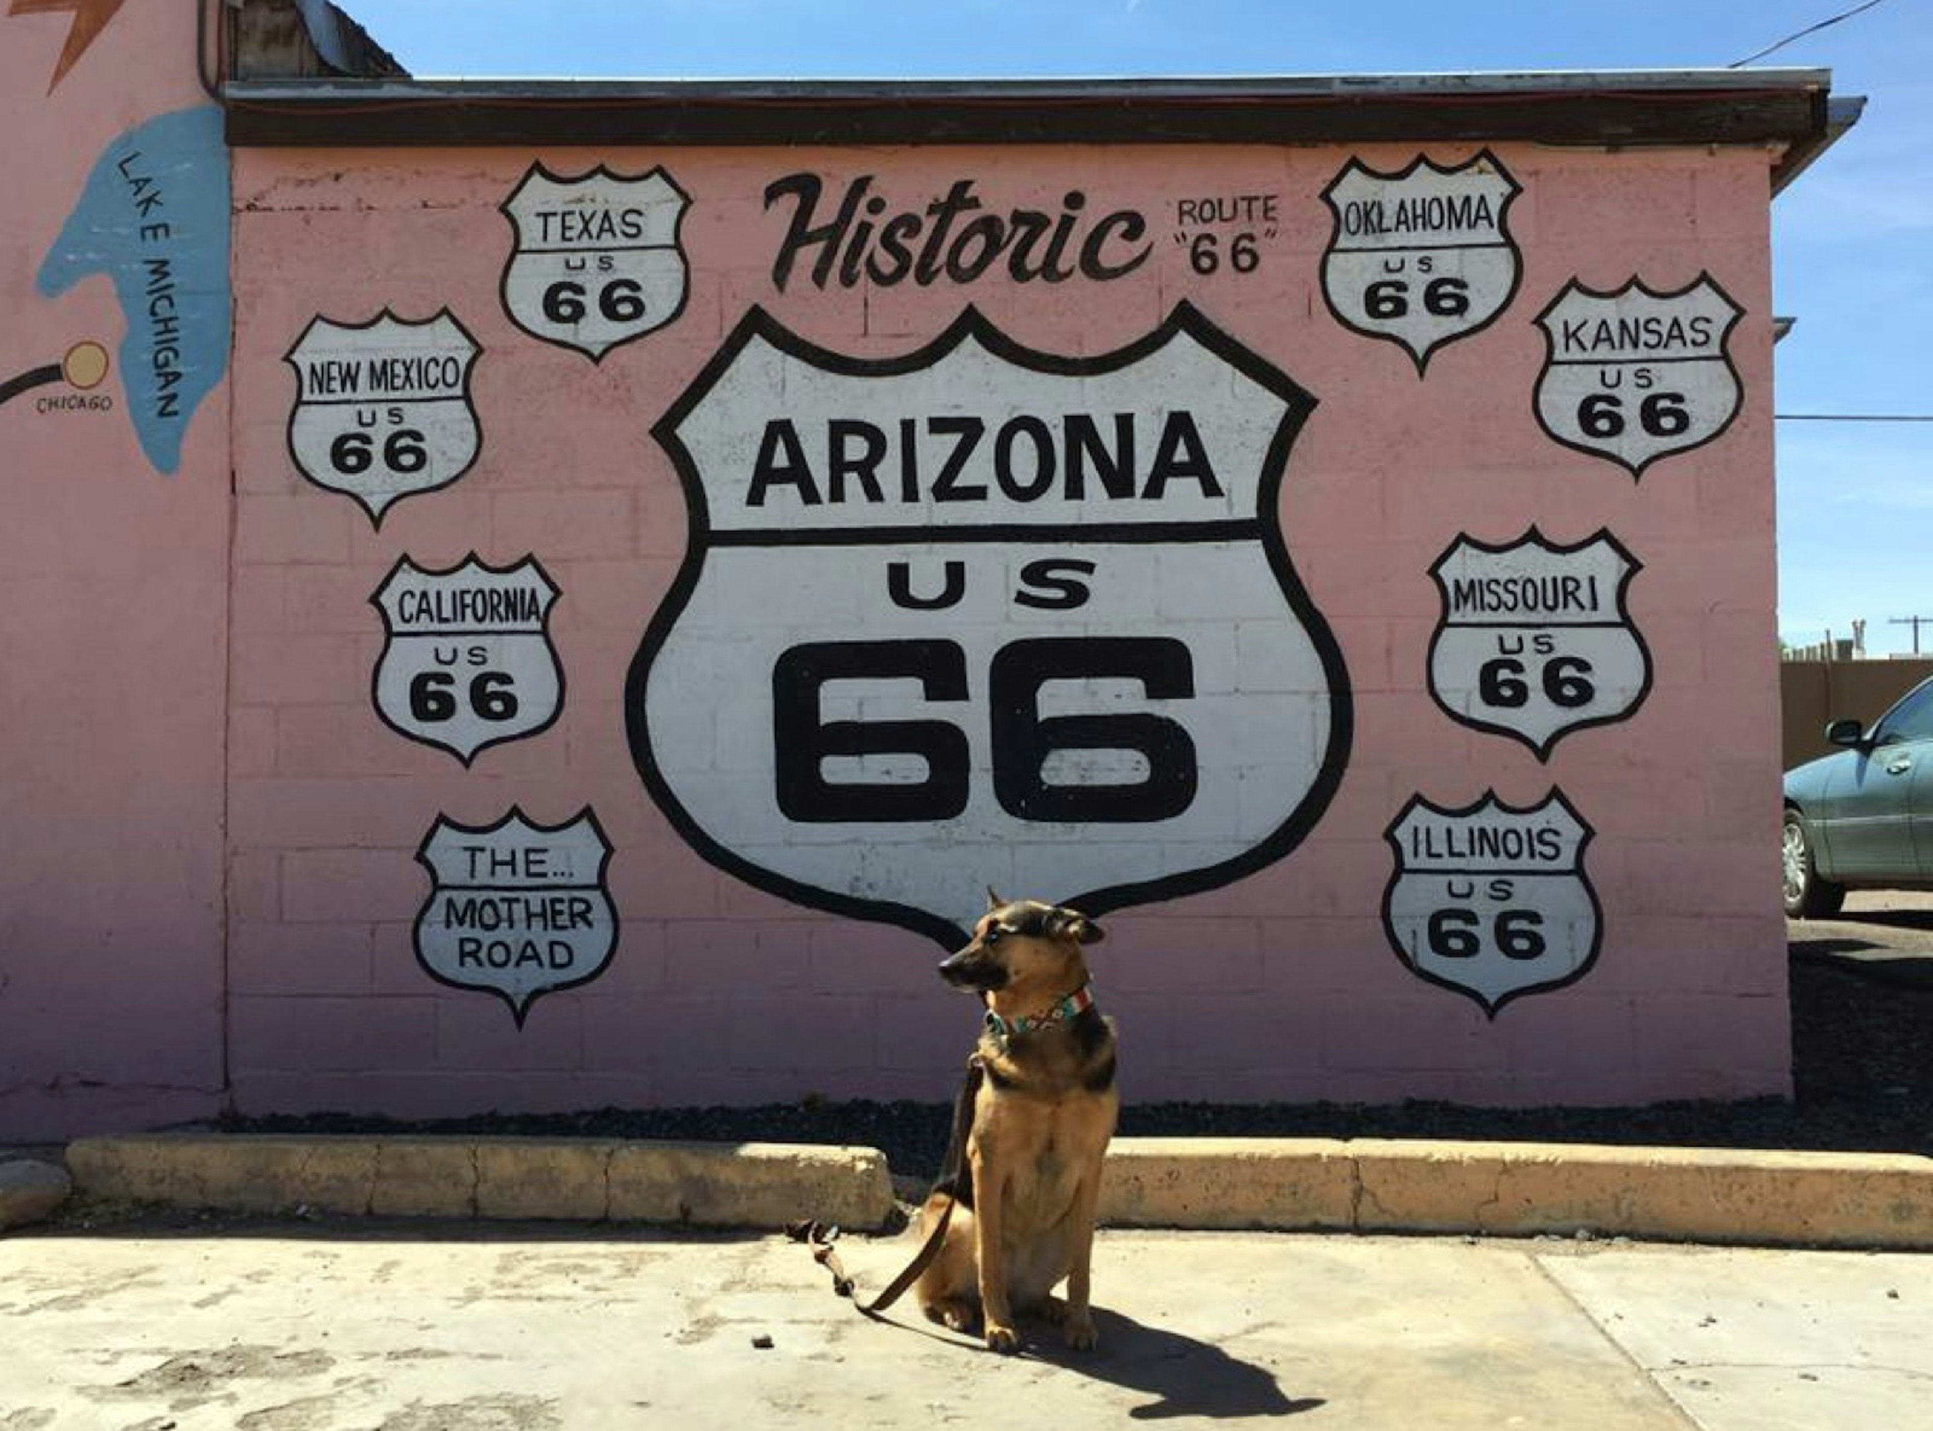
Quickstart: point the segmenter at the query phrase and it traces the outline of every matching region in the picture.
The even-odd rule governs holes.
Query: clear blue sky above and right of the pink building
[[[1307,75],[1728,66],[1858,0],[338,0],[418,75]],[[1527,23],[1529,21],[1529,23]],[[1933,6],[1771,54],[1865,118],[1773,207],[1780,413],[1933,413]],[[1933,423],[1778,425],[1778,628],[1933,616]],[[1921,635],[1933,651],[1933,628]]]

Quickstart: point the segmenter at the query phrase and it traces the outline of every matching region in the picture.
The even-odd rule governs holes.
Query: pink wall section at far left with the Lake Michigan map
[[[93,386],[0,406],[0,1137],[205,1116],[224,1091],[226,388],[182,409],[160,471],[130,421],[114,284],[37,286],[97,160],[207,97],[191,6],[126,6],[56,83],[75,25],[0,15],[0,382],[87,344],[108,357],[77,373]],[[139,226],[180,220],[189,180],[126,151],[157,187],[128,180],[106,228],[166,251]]]

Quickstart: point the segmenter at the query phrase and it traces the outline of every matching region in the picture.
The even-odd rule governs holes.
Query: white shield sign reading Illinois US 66
[[[1597,960],[1602,910],[1583,871],[1591,842],[1562,790],[1514,809],[1486,790],[1442,809],[1413,796],[1384,838],[1396,875],[1382,925],[1405,966],[1496,1012],[1562,989]]]

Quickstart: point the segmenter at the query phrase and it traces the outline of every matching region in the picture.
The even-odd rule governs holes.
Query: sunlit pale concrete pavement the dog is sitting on
[[[864,1294],[910,1238],[841,1246]],[[68,1222],[0,1240],[0,1427],[1933,1425],[1914,1253],[1104,1232],[1094,1267],[1100,1350],[1003,1360],[773,1236]]]

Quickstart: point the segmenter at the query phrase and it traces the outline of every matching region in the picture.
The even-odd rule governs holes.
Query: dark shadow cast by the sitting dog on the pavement
[[[1239,1361],[1220,1346],[1162,1327],[1142,1327],[1117,1311],[1094,1309],[1100,1346],[1092,1352],[1069,1352],[1050,1327],[1034,1325],[1026,1331],[1028,1350],[1042,1361],[1154,1396],[1129,1412],[1137,1421],[1169,1416],[1295,1416],[1324,1404],[1320,1396],[1291,1398],[1272,1371]]]

